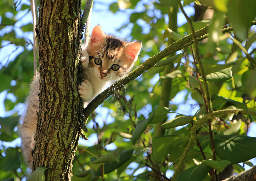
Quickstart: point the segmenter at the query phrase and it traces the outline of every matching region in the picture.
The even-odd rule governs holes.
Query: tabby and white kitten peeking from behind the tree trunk
[[[85,106],[116,80],[126,76],[133,67],[141,50],[141,42],[125,42],[115,36],[106,35],[99,25],[95,26],[88,43],[82,45],[81,62],[83,82],[78,92]],[[39,76],[35,76],[22,115],[19,132],[25,161],[32,168],[34,135],[37,129],[39,111]]]

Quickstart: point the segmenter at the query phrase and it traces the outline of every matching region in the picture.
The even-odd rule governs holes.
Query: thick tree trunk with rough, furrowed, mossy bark
[[[78,146],[80,13],[80,0],[40,0],[40,106],[32,171],[48,168],[46,181],[71,180]]]

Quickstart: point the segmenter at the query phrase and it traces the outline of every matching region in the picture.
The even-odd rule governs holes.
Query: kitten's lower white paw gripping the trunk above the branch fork
[[[83,80],[83,82],[78,86],[78,93],[80,94],[83,102],[92,100],[93,89],[91,83],[88,80]]]

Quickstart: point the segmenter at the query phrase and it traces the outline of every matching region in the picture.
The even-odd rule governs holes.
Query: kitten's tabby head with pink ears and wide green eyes
[[[141,42],[125,42],[115,36],[106,35],[97,25],[93,28],[87,46],[89,66],[102,81],[123,78],[133,67],[141,50]]]

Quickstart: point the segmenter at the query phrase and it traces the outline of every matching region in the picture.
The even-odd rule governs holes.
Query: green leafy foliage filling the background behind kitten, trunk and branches
[[[85,2],[82,1],[82,9]],[[192,2],[192,0],[184,0],[183,5],[186,6]],[[207,115],[205,97],[202,96],[202,93],[206,95],[207,91],[209,91],[214,111],[243,109],[256,112],[256,32],[250,27],[251,21],[256,17],[255,0],[246,2],[199,0],[199,2],[215,9],[214,16],[206,20],[198,21],[191,16],[195,31],[209,24],[206,27],[206,33],[209,33],[208,39],[202,43],[199,42],[198,45],[199,56],[203,58],[202,66],[206,74],[206,82],[201,81],[202,88],[199,83],[202,80],[200,77],[202,72],[199,70],[199,77],[197,77],[199,63],[196,60],[195,64],[193,59],[195,45],[190,42],[189,48],[183,47],[176,53],[177,55],[168,56],[157,62],[146,73],[127,84],[126,90],[123,88],[116,92],[118,96],[113,95],[92,113],[88,124],[93,125],[93,128],[88,129],[86,136],[92,141],[90,136],[97,135],[97,140],[93,140],[95,141],[93,146],[84,147],[83,142],[79,145],[73,161],[72,180],[103,180],[102,178],[120,181],[154,180],[155,178],[163,180],[164,176],[169,179],[170,175],[166,174],[167,171],[174,171],[179,161],[184,158],[183,153],[192,137],[191,128],[199,124],[200,119]],[[95,3],[98,2],[95,0]],[[173,21],[171,16],[170,20],[167,20],[168,12],[172,12],[171,6],[176,7],[178,3],[179,1],[169,0],[154,3],[118,0],[109,6],[106,5],[106,10],[102,10],[111,11],[115,16],[118,16],[118,13],[130,14],[129,19],[118,31],[128,29],[131,32],[128,39],[142,40],[143,50],[135,63],[136,67],[143,64],[148,57],[153,57],[160,51],[168,51],[164,49],[167,47],[165,43],[167,38],[183,41],[186,35],[192,33],[188,23],[178,27],[177,31],[168,27],[168,21]],[[0,29],[1,32],[3,31],[0,37],[1,48],[13,46],[15,49],[11,53],[16,53],[18,47],[23,47],[24,51],[16,57],[5,55],[7,62],[0,61],[0,92],[5,91],[15,96],[15,102],[9,100],[8,96],[4,98],[6,111],[15,112],[15,106],[18,103],[24,103],[29,91],[29,84],[33,77],[33,51],[26,48],[31,46],[30,40],[18,37],[14,29],[15,23],[19,21],[16,14],[29,13],[30,6],[15,4],[16,11],[13,4],[11,0],[0,1],[2,18]],[[193,4],[190,5],[193,6]],[[13,16],[10,16],[10,13]],[[92,16],[95,13],[97,12],[93,10]],[[233,29],[230,33],[220,33],[226,21],[223,17],[226,15],[229,21],[226,27],[232,26]],[[7,28],[11,30],[7,31]],[[21,25],[20,31],[31,32],[32,24]],[[240,44],[234,43],[234,38],[238,39]],[[179,46],[185,46],[185,44]],[[245,53],[248,54],[245,55]],[[166,74],[164,69],[168,65],[173,65],[173,68]],[[166,91],[162,87],[162,81],[165,79],[171,80],[171,84],[168,85],[170,97],[165,97],[170,101],[169,107],[159,106],[161,94]],[[16,84],[11,84],[13,80]],[[208,85],[209,90],[205,85]],[[182,97],[181,94],[185,95]],[[191,97],[196,102],[188,103],[191,102]],[[199,110],[195,113],[194,109],[197,108]],[[102,112],[108,112],[108,114],[104,115]],[[180,116],[172,117],[174,112],[179,113]],[[114,122],[107,125],[110,119]],[[209,125],[207,122],[202,124],[201,132],[200,129],[198,130],[199,144],[194,143],[186,153],[183,171],[179,174],[178,180],[209,180],[210,176],[207,176],[207,173],[210,168],[222,172],[229,164],[237,173],[240,173],[244,170],[238,164],[240,162],[252,167],[252,163],[247,161],[256,157],[256,147],[252,144],[256,140],[247,137],[247,132],[250,124],[255,123],[255,119],[256,116],[253,114],[227,111],[210,120],[216,160],[213,160]],[[165,120],[167,122],[162,124]],[[160,122],[163,135],[156,137],[157,125]],[[18,134],[15,128],[17,124],[17,113],[0,118],[0,140],[11,142],[17,139]],[[109,151],[109,145],[116,145],[117,149]],[[201,145],[206,160],[198,145]],[[8,148],[2,144],[0,153],[0,180],[11,177],[19,180],[27,177],[27,167],[23,163],[21,150],[18,147]],[[157,170],[158,174],[149,167]],[[144,170],[135,178],[134,173],[142,168]],[[45,169],[38,167],[28,180],[44,179]]]

